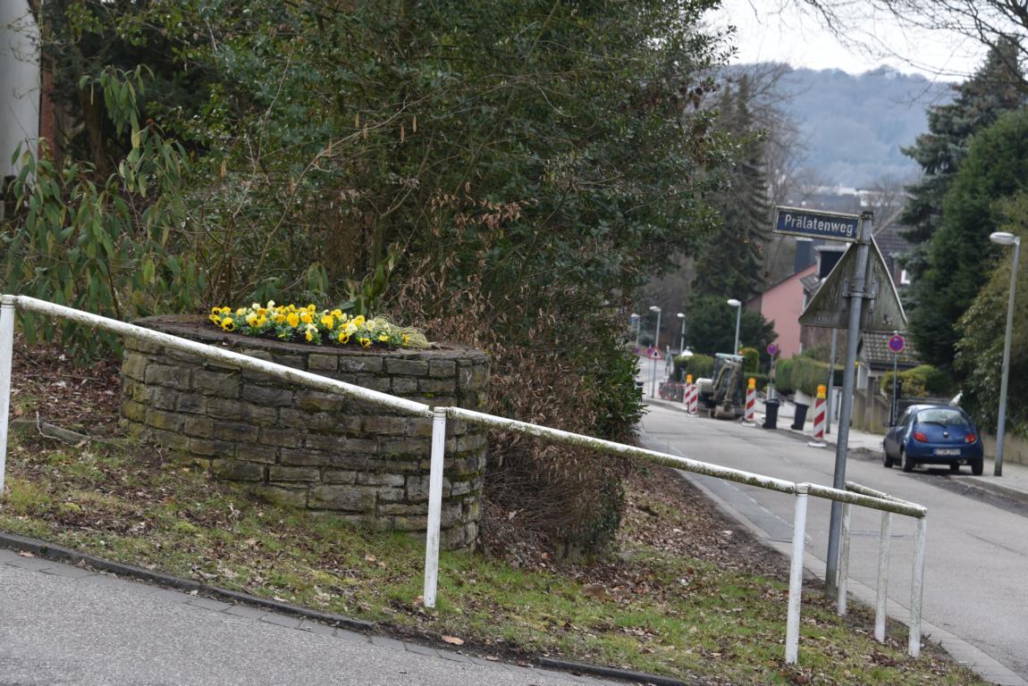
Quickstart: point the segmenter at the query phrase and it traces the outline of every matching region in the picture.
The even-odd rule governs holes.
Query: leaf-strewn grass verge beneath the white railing
[[[800,666],[784,665],[785,562],[662,469],[630,480],[616,555],[568,564],[544,554],[525,567],[444,554],[438,608],[427,611],[416,539],[262,502],[157,449],[13,437],[8,467],[0,529],[403,638],[704,684],[986,683],[933,646],[910,659],[898,624],[875,642],[867,610],[840,619],[815,588],[804,597]]]

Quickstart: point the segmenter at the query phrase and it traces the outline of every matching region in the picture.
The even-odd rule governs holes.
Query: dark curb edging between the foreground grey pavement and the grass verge
[[[372,622],[364,621],[363,619],[355,619],[353,617],[332,612],[313,610],[300,605],[284,603],[282,601],[261,598],[259,596],[251,596],[250,594],[243,593],[241,590],[231,590],[229,588],[222,588],[209,583],[193,581],[192,579],[179,578],[177,576],[172,576],[171,574],[155,572],[143,567],[126,565],[120,562],[112,562],[110,560],[105,560],[104,558],[98,558],[95,555],[89,555],[88,552],[80,552],[73,548],[65,547],[64,545],[56,545],[38,538],[30,538],[29,536],[21,536],[19,534],[0,531],[0,547],[31,552],[37,558],[51,560],[53,562],[72,566],[84,565],[98,571],[117,574],[118,576],[136,579],[138,581],[146,581],[154,585],[175,588],[185,593],[195,593],[197,595],[203,594],[204,596],[215,600],[260,607],[280,614],[291,615],[301,619],[309,619],[311,621],[328,624],[330,626],[356,631],[365,635],[378,635],[375,632],[375,625]],[[401,641],[400,643],[404,642]],[[618,679],[625,682],[653,684],[655,686],[689,686],[687,682],[678,679],[671,679],[669,677],[661,677],[659,675],[646,674],[642,672],[631,672],[628,670],[618,670],[615,668],[586,664],[583,662],[572,662],[568,660],[558,660],[549,657],[536,657],[530,659],[540,668],[559,670],[562,672],[582,673],[597,677]]]

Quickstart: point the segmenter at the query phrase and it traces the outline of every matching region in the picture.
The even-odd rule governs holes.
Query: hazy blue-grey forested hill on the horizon
[[[780,106],[801,127],[812,181],[854,187],[917,175],[900,149],[927,130],[926,109],[950,99],[944,82],[885,68],[859,75],[796,69],[779,88],[790,96]]]

